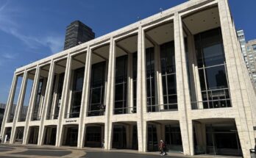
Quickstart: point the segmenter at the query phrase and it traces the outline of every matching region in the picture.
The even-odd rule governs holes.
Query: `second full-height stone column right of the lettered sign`
[[[110,55],[108,62],[107,73],[107,95],[106,95],[106,121],[104,129],[104,143],[105,149],[110,150],[112,148],[112,133],[113,123],[110,121],[110,117],[113,115],[115,94],[115,41],[113,37],[110,38]]]

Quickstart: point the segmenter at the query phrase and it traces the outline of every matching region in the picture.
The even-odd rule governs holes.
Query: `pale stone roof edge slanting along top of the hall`
[[[163,12],[158,12],[157,14],[151,15],[148,18],[144,18],[141,21],[137,21],[133,24],[129,24],[128,26],[124,26],[121,29],[116,29],[113,32],[107,33],[106,35],[102,35],[100,37],[96,37],[93,40],[90,40],[86,43],[82,43],[81,45],[74,46],[71,49],[66,49],[64,51],[57,52],[56,54],[53,54],[49,57],[45,57],[41,60],[37,60],[35,62],[29,63],[28,65],[21,66],[20,68],[17,68],[15,70],[15,73],[19,73],[21,71],[24,71],[27,68],[35,67],[38,64],[49,62],[52,59],[57,59],[58,57],[66,56],[67,54],[71,52],[76,51],[82,51],[86,50],[88,46],[91,45],[97,45],[99,43],[104,43],[107,40],[110,40],[111,37],[118,37],[119,35],[124,35],[129,32],[132,32],[136,29],[138,29],[139,26],[147,26],[149,24],[154,24],[156,21],[159,21],[161,19],[166,19],[174,15],[175,12],[185,12],[187,10],[192,10],[195,7],[200,7],[206,3],[210,3],[216,1],[216,3],[220,0],[190,0],[186,1],[182,4],[179,4],[177,6],[171,7],[168,10],[163,10]],[[223,0],[226,1],[226,0]]]

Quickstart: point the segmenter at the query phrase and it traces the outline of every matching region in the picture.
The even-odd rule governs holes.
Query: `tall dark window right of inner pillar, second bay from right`
[[[177,109],[174,41],[160,46],[164,109]]]

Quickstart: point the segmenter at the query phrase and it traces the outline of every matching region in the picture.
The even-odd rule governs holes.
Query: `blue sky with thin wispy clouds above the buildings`
[[[0,103],[6,103],[13,72],[63,50],[65,27],[87,24],[96,37],[186,0],[0,0]],[[237,29],[256,38],[256,1],[230,0]]]

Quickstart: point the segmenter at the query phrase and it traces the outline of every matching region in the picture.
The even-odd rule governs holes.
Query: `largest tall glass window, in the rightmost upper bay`
[[[221,29],[194,36],[203,107],[232,107]]]

